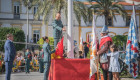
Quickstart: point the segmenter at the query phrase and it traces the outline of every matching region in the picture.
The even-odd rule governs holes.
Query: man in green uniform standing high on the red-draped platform
[[[56,18],[52,22],[52,26],[53,26],[54,47],[56,47],[60,38],[62,38],[62,31],[66,31],[65,27],[63,27],[60,13],[56,14]]]

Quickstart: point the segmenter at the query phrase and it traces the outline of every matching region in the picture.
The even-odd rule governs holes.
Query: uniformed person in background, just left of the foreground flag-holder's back
[[[39,54],[39,72],[40,73],[43,73],[44,72],[44,62],[43,62],[43,59],[44,59],[44,52],[43,52],[43,49],[41,49],[41,52]]]

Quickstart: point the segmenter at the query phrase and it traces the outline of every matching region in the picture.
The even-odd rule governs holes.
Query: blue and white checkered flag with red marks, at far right
[[[127,45],[126,45],[126,59],[125,62],[128,65],[128,71],[133,78],[138,77],[138,39],[136,34],[136,22],[135,13],[133,8],[133,14],[131,16],[131,22],[129,27]]]

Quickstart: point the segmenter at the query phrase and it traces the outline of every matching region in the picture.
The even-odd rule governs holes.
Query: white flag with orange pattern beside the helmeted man
[[[90,54],[90,78],[91,76],[97,72],[98,76],[98,65],[96,64],[97,61],[97,37],[96,37],[96,25],[95,25],[95,19],[93,15],[93,25],[92,25],[92,52]]]

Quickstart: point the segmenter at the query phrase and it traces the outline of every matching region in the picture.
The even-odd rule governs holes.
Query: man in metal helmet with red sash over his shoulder
[[[109,58],[107,57],[107,53],[109,53],[109,47],[113,43],[111,37],[108,35],[108,27],[105,25],[102,28],[100,33],[101,40],[99,44],[99,50],[97,55],[99,55],[100,67],[103,70],[104,80],[107,80],[107,75],[109,73],[109,80],[112,80],[112,73],[108,71],[109,68]]]

